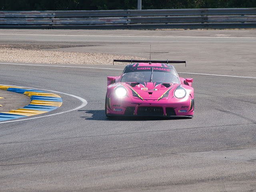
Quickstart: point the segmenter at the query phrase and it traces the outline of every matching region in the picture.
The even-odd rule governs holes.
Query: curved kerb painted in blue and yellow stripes
[[[46,113],[62,105],[62,98],[53,93],[12,86],[0,86],[0,89],[24,94],[30,97],[31,100],[30,104],[23,108],[0,112],[0,121]]]

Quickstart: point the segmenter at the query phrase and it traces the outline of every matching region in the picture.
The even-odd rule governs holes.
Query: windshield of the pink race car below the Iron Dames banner
[[[121,82],[179,83],[179,79],[173,68],[153,67],[152,73],[152,67],[129,67],[124,70]]]

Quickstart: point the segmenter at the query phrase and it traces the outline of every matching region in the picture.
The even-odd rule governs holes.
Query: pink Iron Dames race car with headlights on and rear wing
[[[192,78],[178,76],[168,63],[185,61],[144,61],[128,64],[120,76],[109,76],[105,102],[106,116],[167,116],[194,115]]]

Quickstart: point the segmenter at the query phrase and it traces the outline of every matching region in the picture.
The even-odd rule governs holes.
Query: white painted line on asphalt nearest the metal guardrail
[[[70,37],[164,37],[164,38],[234,38],[234,39],[256,39],[256,37],[229,37],[229,36],[139,36],[139,35],[58,35],[58,34],[8,34],[2,33],[0,35],[33,35],[33,36],[70,36]]]

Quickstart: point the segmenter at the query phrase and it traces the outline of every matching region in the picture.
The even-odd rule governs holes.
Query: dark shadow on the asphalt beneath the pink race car
[[[154,117],[154,116],[110,116],[106,117],[105,110],[78,110],[84,111],[88,116],[82,116],[85,120],[96,121],[157,121],[157,120],[177,120],[177,119],[190,119],[188,117]],[[92,114],[92,116],[90,116]]]

